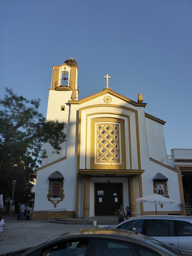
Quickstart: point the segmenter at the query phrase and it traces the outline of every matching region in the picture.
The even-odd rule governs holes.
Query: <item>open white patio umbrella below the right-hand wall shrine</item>
[[[156,204],[172,204],[175,203],[174,200],[160,196],[157,194],[144,196],[136,199],[136,202],[142,202],[142,203],[155,203],[155,212],[157,214],[157,205]]]

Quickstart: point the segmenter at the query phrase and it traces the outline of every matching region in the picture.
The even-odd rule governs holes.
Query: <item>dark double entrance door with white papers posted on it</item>
[[[122,183],[95,183],[95,216],[115,215],[123,204]]]

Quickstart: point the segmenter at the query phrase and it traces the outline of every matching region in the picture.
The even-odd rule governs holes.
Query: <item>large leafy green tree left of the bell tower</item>
[[[31,199],[35,169],[47,157],[44,143],[59,154],[66,141],[65,122],[47,120],[39,113],[40,99],[27,100],[5,88],[0,100],[0,194],[12,195],[12,180],[17,180],[15,200]]]

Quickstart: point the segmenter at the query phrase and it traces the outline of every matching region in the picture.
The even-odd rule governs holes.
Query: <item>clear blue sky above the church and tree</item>
[[[41,99],[73,57],[79,99],[106,86],[166,121],[167,153],[192,148],[192,1],[0,1],[0,93]]]

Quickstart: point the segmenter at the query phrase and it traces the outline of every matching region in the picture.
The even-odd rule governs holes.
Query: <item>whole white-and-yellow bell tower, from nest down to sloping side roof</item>
[[[71,106],[68,101],[78,100],[77,72],[77,62],[73,58],[65,60],[60,66],[53,66],[51,88],[49,88],[46,119],[57,119],[59,122],[65,122],[65,132],[67,134],[70,133],[69,123],[71,118]],[[63,143],[60,154],[56,155],[52,154],[52,147],[45,143],[44,148],[47,150],[48,158],[43,159],[42,165],[66,157],[67,145],[68,143]]]

